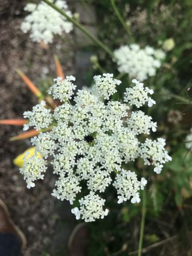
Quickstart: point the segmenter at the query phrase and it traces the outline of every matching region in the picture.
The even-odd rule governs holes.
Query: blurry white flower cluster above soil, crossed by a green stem
[[[72,17],[65,0],[57,0],[55,5],[64,10],[69,17]],[[21,30],[24,33],[30,31],[30,38],[34,42],[42,40],[45,44],[52,43],[54,34],[62,35],[63,31],[69,33],[73,29],[71,22],[45,2],[41,1],[38,5],[28,3],[24,10],[30,14],[21,23]]]

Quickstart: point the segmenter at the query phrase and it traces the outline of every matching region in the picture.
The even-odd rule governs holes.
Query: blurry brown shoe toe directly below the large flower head
[[[78,224],[72,231],[69,242],[69,256],[88,255],[90,229],[85,223]]]

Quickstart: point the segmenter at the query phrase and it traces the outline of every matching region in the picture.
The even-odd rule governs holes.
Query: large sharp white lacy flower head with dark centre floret
[[[110,184],[117,190],[118,203],[129,199],[132,203],[140,202],[139,190],[144,189],[147,180],[141,175],[138,178],[135,172],[123,169],[122,165],[141,157],[145,165],[153,165],[154,171],[160,173],[163,163],[171,160],[164,148],[165,139],[138,141],[137,135],[156,131],[156,122],[140,110],[128,114],[127,102],[136,109],[146,102],[148,106],[155,104],[149,97],[153,91],[134,79],[126,89],[124,102],[113,101],[109,97],[121,81],[113,79],[113,74],[95,76],[94,80],[101,96],[107,99],[106,103],[87,90],[78,90],[72,105],[69,99],[76,86],[71,82],[75,78],[70,76],[64,81],[54,79],[49,90],[55,99],[63,102],[62,105],[56,106],[51,113],[42,101],[33,111],[24,113],[24,117],[29,118],[28,127],[39,130],[49,124],[52,129],[31,139],[36,155],[25,157],[20,169],[27,187],[33,187],[35,180],[43,178],[41,173],[45,172],[47,161],[44,159],[49,156],[53,173],[58,175],[52,195],[68,200],[71,205],[85,183],[90,193],[71,211],[76,219],[86,222],[108,214],[109,210],[104,209],[105,199],[98,193],[105,192]],[[37,153],[42,156],[40,160]],[[112,173],[116,175],[114,181]]]

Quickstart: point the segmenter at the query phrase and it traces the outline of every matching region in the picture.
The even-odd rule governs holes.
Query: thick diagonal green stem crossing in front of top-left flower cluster
[[[103,50],[105,50],[109,55],[111,55],[112,57],[114,57],[113,52],[108,48],[108,46],[106,46],[104,43],[102,43],[99,39],[97,39],[97,37],[95,37],[93,34],[89,33],[89,31],[83,27],[78,21],[76,21],[75,19],[69,17],[64,11],[62,11],[61,9],[59,9],[57,6],[55,6],[53,3],[51,3],[49,0],[42,0],[43,2],[47,3],[49,6],[51,6],[53,9],[55,9],[56,11],[58,11],[61,15],[65,16],[65,18],[70,21],[71,23],[73,23],[76,27],[78,27],[78,29],[80,29],[85,35],[87,35],[87,37],[89,37],[93,42],[95,42],[97,45],[99,45],[101,48],[103,48]]]

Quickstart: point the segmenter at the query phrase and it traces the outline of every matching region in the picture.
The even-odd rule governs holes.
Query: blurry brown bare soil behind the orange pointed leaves
[[[26,13],[27,1],[0,1],[0,118],[21,118],[23,111],[30,110],[37,103],[35,96],[24,85],[15,69],[21,69],[36,85],[49,73],[54,78],[53,54],[58,54],[65,63],[65,73],[73,74],[73,55],[69,43],[57,39],[49,50],[30,41],[20,30]],[[72,40],[68,36],[68,41]],[[62,52],[60,45],[62,43]],[[55,225],[55,198],[50,196],[54,177],[49,174],[34,189],[27,189],[26,183],[13,159],[29,146],[29,140],[10,142],[11,136],[22,131],[22,127],[0,127],[0,197],[10,210],[11,217],[26,235],[25,256],[43,254],[49,246]]]

